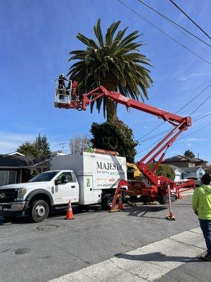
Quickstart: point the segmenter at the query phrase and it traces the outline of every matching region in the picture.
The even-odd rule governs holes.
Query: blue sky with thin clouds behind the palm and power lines
[[[208,52],[200,49],[139,1],[122,1],[192,51],[211,61],[210,47],[200,44]],[[170,1],[146,0],[146,3],[209,42],[210,39],[174,8]],[[177,0],[177,4],[211,33],[210,0]],[[146,45],[141,48],[141,52],[153,65],[150,68],[153,87],[148,90],[149,100],[146,103],[174,112],[210,84],[210,64],[162,35],[117,0],[1,0],[0,154],[15,151],[18,145],[25,140],[34,140],[39,133],[48,137],[51,149],[62,149],[58,144],[66,143],[63,150],[68,152],[71,137],[85,133],[90,135],[91,123],[103,122],[103,114],[96,111],[90,114],[89,109],[78,112],[53,107],[54,80],[59,73],[68,73],[70,67],[70,63],[67,63],[68,51],[83,47],[75,38],[77,32],[94,37],[93,26],[98,18],[101,18],[103,31],[114,21],[121,20],[122,28],[128,26],[129,32],[139,30],[143,34],[141,39]],[[211,87],[179,114],[190,114],[210,92]],[[196,111],[195,116],[209,110],[211,99]],[[124,106],[118,106],[117,114],[134,130],[136,140],[161,123],[158,118],[134,109],[127,113]],[[193,123],[181,135],[183,138],[170,147],[167,156],[183,154],[186,149],[191,149],[196,155],[211,161],[210,127],[185,137],[209,123],[210,116]],[[151,135],[167,128],[170,125],[162,125]],[[140,142],[137,151],[145,149],[155,140],[156,137]],[[136,159],[140,159],[146,152],[137,154]]]

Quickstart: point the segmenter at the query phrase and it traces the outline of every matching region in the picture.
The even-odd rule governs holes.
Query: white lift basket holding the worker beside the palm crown
[[[55,80],[55,94],[54,106],[60,108],[61,106],[70,105],[72,99],[72,80],[64,80],[67,87],[61,87],[58,84],[58,79]]]

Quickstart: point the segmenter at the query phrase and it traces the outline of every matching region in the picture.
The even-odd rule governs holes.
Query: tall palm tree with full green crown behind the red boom
[[[103,85],[109,91],[119,91],[125,97],[139,99],[148,98],[147,88],[152,80],[145,65],[151,66],[149,60],[139,52],[142,42],[135,42],[140,36],[134,31],[124,36],[127,28],[119,30],[120,20],[108,27],[106,37],[101,32],[101,20],[94,25],[96,41],[77,34],[77,38],[86,45],[84,50],[71,51],[71,60],[77,60],[70,67],[68,75],[78,82],[78,94],[83,94]],[[103,114],[107,120],[117,118],[115,102],[106,97],[96,100],[96,108],[100,112],[103,102]],[[91,112],[94,102],[91,104]]]

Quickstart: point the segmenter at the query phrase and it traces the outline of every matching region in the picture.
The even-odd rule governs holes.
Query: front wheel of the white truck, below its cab
[[[49,204],[44,200],[36,200],[30,205],[30,218],[34,222],[44,221],[49,216]]]

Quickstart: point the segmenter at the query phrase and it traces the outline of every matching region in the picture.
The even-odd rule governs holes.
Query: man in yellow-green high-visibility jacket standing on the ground
[[[210,175],[204,174],[201,178],[200,187],[193,192],[192,207],[200,222],[205,243],[207,245],[207,255],[200,257],[206,262],[211,262],[211,185]]]

